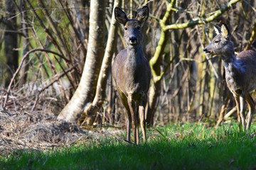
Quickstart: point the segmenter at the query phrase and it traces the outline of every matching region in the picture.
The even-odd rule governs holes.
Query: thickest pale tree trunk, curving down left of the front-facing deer
[[[59,119],[73,122],[95,96],[105,50],[105,1],[90,2],[90,28],[85,67],[75,94],[58,115]]]

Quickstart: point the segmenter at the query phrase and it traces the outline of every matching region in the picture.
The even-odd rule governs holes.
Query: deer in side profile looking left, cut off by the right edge
[[[225,80],[235,98],[238,114],[238,123],[242,121],[245,130],[245,102],[247,102],[247,125],[250,130],[252,116],[255,112],[255,103],[250,92],[256,89],[256,52],[245,50],[235,55],[233,42],[230,40],[228,26],[223,23],[221,27],[214,26],[215,37],[210,44],[203,49],[206,55],[220,55],[224,62]],[[240,124],[241,125],[241,124]]]

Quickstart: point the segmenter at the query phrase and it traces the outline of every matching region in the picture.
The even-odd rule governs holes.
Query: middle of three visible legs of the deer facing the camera
[[[136,103],[132,100],[132,94],[128,94],[128,105],[132,115],[132,129],[134,132],[134,143],[137,144],[137,116],[136,116]]]

